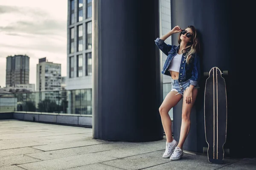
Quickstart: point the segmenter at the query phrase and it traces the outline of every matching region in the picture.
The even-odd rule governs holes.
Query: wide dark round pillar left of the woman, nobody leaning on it
[[[92,2],[93,137],[162,139],[158,0]]]

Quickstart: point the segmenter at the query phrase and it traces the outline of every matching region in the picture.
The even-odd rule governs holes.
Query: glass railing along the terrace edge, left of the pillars
[[[92,115],[92,89],[0,93],[0,112]]]

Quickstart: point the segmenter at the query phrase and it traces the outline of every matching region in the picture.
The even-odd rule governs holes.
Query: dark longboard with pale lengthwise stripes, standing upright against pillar
[[[218,67],[209,71],[204,91],[204,125],[208,161],[222,164],[227,136],[227,93],[225,79]]]

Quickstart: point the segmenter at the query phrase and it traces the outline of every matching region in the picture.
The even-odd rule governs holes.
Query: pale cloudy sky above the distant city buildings
[[[0,0],[0,86],[6,57],[27,55],[29,83],[36,84],[38,59],[61,64],[67,75],[67,0]]]

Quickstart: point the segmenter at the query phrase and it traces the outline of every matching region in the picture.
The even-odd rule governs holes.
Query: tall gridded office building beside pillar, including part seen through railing
[[[67,113],[92,114],[92,0],[68,0],[67,30]]]

